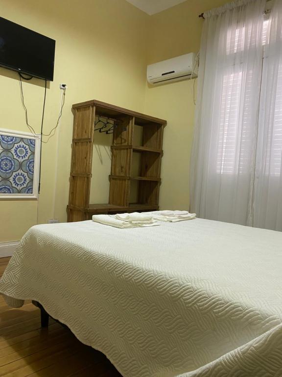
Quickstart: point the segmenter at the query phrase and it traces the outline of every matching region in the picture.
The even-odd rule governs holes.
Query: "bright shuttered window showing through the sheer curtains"
[[[269,19],[266,18],[262,27],[262,43],[265,46],[269,40]],[[250,125],[252,119],[251,88],[253,71],[244,65],[244,52],[249,53],[256,46],[252,30],[244,26],[226,36],[226,72],[222,78],[220,122],[217,145],[216,173],[243,174],[250,170],[250,148],[256,130]],[[261,69],[263,58],[261,56]],[[244,99],[242,101],[242,98]],[[267,156],[270,171],[280,175],[282,168],[282,66],[277,81],[277,96],[275,101],[274,131],[269,132],[268,142],[271,152]],[[239,146],[239,147],[238,147]]]

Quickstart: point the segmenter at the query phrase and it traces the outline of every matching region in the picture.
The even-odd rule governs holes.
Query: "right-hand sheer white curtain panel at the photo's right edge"
[[[270,13],[263,59],[255,170],[254,221],[282,230],[282,0]]]

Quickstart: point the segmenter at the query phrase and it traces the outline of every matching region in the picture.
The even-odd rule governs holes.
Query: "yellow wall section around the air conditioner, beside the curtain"
[[[203,19],[198,15],[226,0],[187,0],[151,16],[148,64],[200,50]],[[193,81],[146,86],[145,113],[167,120],[160,206],[189,207],[189,163],[193,137]],[[196,85],[195,85],[196,89]]]

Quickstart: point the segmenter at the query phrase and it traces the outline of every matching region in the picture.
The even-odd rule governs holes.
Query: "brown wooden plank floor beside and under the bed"
[[[9,258],[0,258],[0,276]],[[0,295],[0,376],[121,377],[100,352],[80,343],[70,330],[50,320],[40,326],[31,302],[10,308]]]

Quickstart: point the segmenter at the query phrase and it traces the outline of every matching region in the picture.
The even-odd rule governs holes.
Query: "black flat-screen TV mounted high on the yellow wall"
[[[0,17],[0,66],[53,81],[55,43]]]

